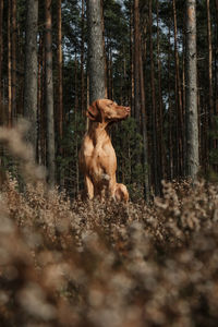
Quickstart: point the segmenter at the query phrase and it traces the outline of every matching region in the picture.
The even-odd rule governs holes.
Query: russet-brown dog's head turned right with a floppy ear
[[[110,123],[128,118],[130,111],[130,107],[118,106],[109,99],[98,99],[90,105],[86,114],[92,121]]]

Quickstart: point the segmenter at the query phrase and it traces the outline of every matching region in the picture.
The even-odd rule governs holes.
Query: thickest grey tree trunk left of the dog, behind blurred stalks
[[[29,121],[27,141],[36,153],[37,140],[37,31],[38,0],[27,1],[26,39],[25,39],[25,84],[24,84],[24,117]]]

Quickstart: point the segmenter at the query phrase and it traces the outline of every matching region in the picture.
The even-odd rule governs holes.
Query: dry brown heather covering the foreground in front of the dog
[[[118,205],[32,178],[0,195],[1,326],[217,326],[217,185]]]

